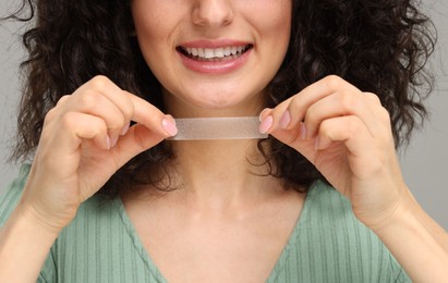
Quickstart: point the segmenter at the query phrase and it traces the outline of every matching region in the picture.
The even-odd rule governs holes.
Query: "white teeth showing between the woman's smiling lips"
[[[175,49],[182,53],[183,56],[191,58],[196,61],[227,61],[233,60],[250,49],[252,49],[252,45],[246,46],[232,46],[232,47],[219,47],[219,48],[194,48],[194,47],[183,47],[179,46]]]

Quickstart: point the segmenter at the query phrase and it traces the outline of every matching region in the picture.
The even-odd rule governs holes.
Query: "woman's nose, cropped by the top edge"
[[[233,8],[229,0],[197,0],[193,7],[193,23],[199,26],[220,27],[233,21]]]

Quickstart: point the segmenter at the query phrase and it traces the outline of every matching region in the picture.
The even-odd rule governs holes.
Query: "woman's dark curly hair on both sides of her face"
[[[377,94],[390,113],[397,147],[408,143],[412,130],[426,118],[423,99],[433,84],[424,66],[436,35],[434,25],[419,9],[420,2],[291,1],[290,46],[268,86],[266,107],[275,107],[327,75],[338,75],[364,91]],[[32,156],[47,111],[61,96],[95,75],[109,77],[164,110],[160,85],[133,36],[130,1],[23,0],[12,17],[35,21],[23,36],[29,52],[22,63],[27,82],[12,159],[24,161]],[[270,165],[270,174],[284,180],[286,187],[306,189],[323,179],[311,162],[275,138],[261,140],[258,148]],[[162,142],[116,172],[100,194],[114,196],[137,184],[160,187],[172,158],[169,143]]]

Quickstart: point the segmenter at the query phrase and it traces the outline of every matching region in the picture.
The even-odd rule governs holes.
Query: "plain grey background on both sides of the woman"
[[[14,8],[14,0],[0,1],[0,16]],[[411,145],[400,150],[404,179],[425,210],[448,230],[448,3],[426,0],[427,11],[438,29],[438,45],[431,61],[436,87],[427,100],[432,112],[425,127],[414,134]],[[19,63],[23,57],[20,44],[22,24],[0,24],[0,193],[17,174],[17,165],[5,163],[15,128],[16,103],[21,81]]]

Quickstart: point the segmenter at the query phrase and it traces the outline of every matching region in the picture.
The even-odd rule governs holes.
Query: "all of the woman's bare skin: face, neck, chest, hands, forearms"
[[[291,1],[131,2],[145,60],[169,89],[169,114],[258,114],[257,98],[289,45]],[[182,45],[226,48],[229,42],[252,47],[234,72],[225,61],[226,75],[195,72],[180,61]],[[80,205],[131,158],[175,135],[169,114],[101,76],[63,97],[46,115],[23,197],[0,230],[0,281],[36,281]],[[328,76],[264,110],[259,130],[316,165],[414,282],[448,281],[448,234],[408,189],[390,118],[374,94]],[[254,144],[179,143],[174,150],[181,189],[157,199],[122,196],[148,254],[173,282],[229,281],[226,268],[243,280],[264,281],[304,196],[249,172],[243,158],[253,157]]]

